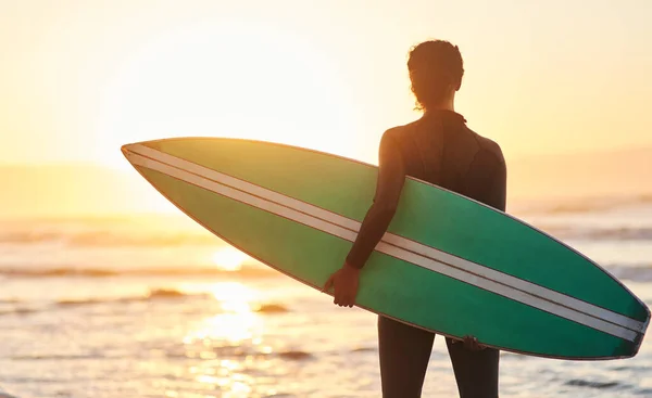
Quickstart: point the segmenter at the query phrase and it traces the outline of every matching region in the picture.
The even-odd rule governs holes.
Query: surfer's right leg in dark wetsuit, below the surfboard
[[[498,398],[498,364],[500,351],[464,348],[463,343],[447,338],[460,398]]]

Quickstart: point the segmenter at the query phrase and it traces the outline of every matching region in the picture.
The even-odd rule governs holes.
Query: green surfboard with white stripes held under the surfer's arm
[[[377,177],[368,164],[251,140],[178,138],[122,151],[187,216],[317,290],[343,264]],[[355,303],[452,338],[573,360],[632,357],[650,322],[638,297],[568,245],[413,178]]]

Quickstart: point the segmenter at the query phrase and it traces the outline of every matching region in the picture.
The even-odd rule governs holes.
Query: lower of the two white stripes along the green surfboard
[[[200,187],[202,189],[212,191],[216,194],[233,198],[235,201],[244,203],[247,205],[260,208],[262,210],[275,214],[280,217],[285,217],[296,222],[300,222],[308,227],[317,229],[319,231],[329,233],[331,235],[344,239],[349,242],[354,242],[356,237],[356,232],[351,231],[347,228],[336,226],[323,219],[306,215],[299,210],[279,205],[277,203],[267,201],[265,198],[254,196],[252,194],[239,191],[235,188],[225,185],[223,183],[212,181],[205,177],[195,175],[192,172],[175,168],[171,165],[158,162],[152,158],[148,158],[135,153],[126,154],[129,162],[136,166],[146,167],[152,170],[160,171],[178,180],[185,181],[187,183]],[[489,292],[499,294],[501,296],[511,298],[513,300],[526,304],[534,308],[541,309],[543,311],[553,313],[555,316],[568,319],[570,321],[584,324],[586,326],[595,329],[598,331],[611,334],[613,336],[627,339],[629,342],[635,342],[637,338],[637,333],[630,331],[620,325],[606,322],[602,319],[598,319],[586,313],[579,312],[573,308],[564,307],[556,303],[542,299],[537,296],[532,296],[527,292],[523,292],[511,286],[503,285],[492,280],[488,280],[481,278],[479,275],[469,273],[467,271],[450,267],[448,265],[441,264],[437,260],[424,257],[416,253],[409,252],[406,249],[390,245],[385,242],[380,242],[376,246],[376,251],[387,254],[389,256],[415,264],[417,266],[427,268],[435,272],[439,272],[441,274],[448,275],[450,278],[460,280],[462,282],[475,285],[477,287],[487,290]]]

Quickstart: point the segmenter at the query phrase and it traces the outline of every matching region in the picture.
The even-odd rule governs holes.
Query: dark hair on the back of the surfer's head
[[[416,108],[440,104],[451,86],[460,90],[464,65],[457,46],[443,40],[424,41],[410,50],[408,70]]]

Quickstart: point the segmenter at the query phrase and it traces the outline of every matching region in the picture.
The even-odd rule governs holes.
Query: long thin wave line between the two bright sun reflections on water
[[[102,269],[102,268],[4,268],[0,275],[15,278],[110,278],[110,277],[272,277],[277,272],[264,267],[242,267],[238,270],[220,268],[136,268],[136,269]]]

